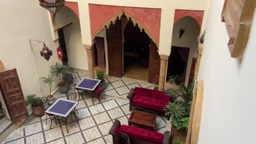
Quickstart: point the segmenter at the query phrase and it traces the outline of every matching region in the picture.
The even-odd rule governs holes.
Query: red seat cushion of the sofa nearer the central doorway
[[[132,99],[132,105],[152,109],[156,111],[164,112],[164,107],[168,104],[168,101],[162,101],[154,98],[144,97],[142,95],[135,95]]]

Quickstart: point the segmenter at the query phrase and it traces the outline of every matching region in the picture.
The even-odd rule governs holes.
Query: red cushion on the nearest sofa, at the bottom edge
[[[124,133],[129,137],[159,144],[162,143],[162,139],[164,139],[164,134],[128,125],[121,125],[120,128],[115,128],[115,133],[118,134],[119,132]]]

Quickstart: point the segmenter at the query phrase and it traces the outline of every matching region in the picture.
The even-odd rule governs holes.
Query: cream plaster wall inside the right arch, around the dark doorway
[[[185,32],[179,39],[179,29],[183,29]],[[187,65],[187,72],[185,77],[185,85],[188,85],[189,74],[192,64],[192,59],[196,57],[197,53],[197,37],[200,34],[200,26],[192,17],[183,17],[173,27],[173,39],[172,46],[188,47],[189,58]]]

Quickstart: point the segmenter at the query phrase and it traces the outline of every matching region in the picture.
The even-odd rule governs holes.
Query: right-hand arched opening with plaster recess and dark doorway
[[[193,82],[195,68],[193,59],[196,59],[199,34],[200,25],[191,16],[182,17],[174,24],[172,49],[166,74],[167,84],[184,83],[188,86]],[[193,77],[192,80],[190,80],[191,77]]]

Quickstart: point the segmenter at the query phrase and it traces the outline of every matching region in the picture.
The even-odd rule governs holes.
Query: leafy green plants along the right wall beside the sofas
[[[187,88],[184,84],[179,87],[181,92],[181,100],[175,103],[168,103],[165,107],[165,115],[171,117],[172,130],[170,143],[173,143],[175,139],[181,140],[185,143],[187,138],[187,131],[189,125],[189,115],[191,103],[193,100],[194,82]],[[168,94],[173,95],[173,94]]]

